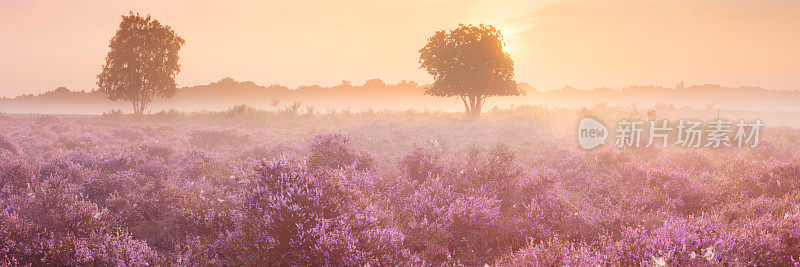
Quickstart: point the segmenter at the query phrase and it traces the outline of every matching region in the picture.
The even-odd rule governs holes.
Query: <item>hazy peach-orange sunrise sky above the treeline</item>
[[[122,15],[186,40],[179,86],[223,77],[336,85],[431,82],[418,50],[459,23],[502,30],[537,90],[679,82],[800,90],[800,1],[0,0],[0,97],[96,88]]]

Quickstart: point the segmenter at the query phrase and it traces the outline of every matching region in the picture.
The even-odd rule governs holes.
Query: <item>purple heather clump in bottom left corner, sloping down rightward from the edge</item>
[[[77,194],[68,174],[33,181],[2,199],[0,252],[13,264],[148,264],[156,254],[142,241],[112,234],[107,211]]]

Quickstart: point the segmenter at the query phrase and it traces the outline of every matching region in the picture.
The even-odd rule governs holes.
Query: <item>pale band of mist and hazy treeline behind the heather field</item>
[[[301,113],[337,111],[428,111],[457,113],[463,106],[457,99],[442,99],[424,94],[426,84],[403,81],[386,84],[380,79],[357,85],[343,81],[332,87],[257,85],[224,78],[208,85],[182,87],[175,97],[157,99],[150,112],[213,112],[236,105],[279,111],[297,105]],[[521,96],[496,97],[487,109],[514,109],[539,106],[550,109],[581,109],[609,106],[638,110],[654,109],[665,118],[703,118],[723,115],[743,119],[764,119],[776,125],[800,125],[800,92],[760,87],[723,87],[713,84],[675,88],[631,86],[623,89],[576,89],[540,91],[527,83],[519,85]],[[126,103],[115,103],[97,91],[60,87],[42,94],[0,99],[0,111],[34,114],[94,114],[113,110],[127,111]],[[718,112],[720,114],[718,114]],[[666,115],[669,115],[668,117]]]

